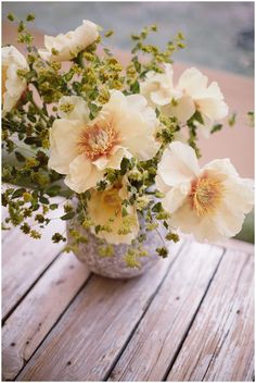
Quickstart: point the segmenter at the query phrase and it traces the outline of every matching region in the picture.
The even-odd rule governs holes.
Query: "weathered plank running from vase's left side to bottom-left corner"
[[[89,271],[73,254],[62,254],[2,329],[2,373],[13,380],[87,281]]]

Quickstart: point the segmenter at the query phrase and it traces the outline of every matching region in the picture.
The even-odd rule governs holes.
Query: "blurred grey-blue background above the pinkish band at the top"
[[[35,27],[49,35],[65,33],[89,18],[114,29],[113,46],[129,50],[132,33],[158,24],[152,42],[159,46],[181,30],[187,46],[176,59],[247,76],[254,71],[254,2],[3,2],[24,17],[33,12]],[[205,54],[207,51],[207,54]]]

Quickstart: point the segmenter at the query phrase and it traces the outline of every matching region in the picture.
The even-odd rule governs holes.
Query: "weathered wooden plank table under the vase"
[[[3,380],[253,380],[252,245],[184,238],[143,276],[114,281],[63,254],[53,230],[3,233]]]

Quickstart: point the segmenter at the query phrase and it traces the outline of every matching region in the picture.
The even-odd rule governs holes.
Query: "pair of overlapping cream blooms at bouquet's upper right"
[[[174,86],[172,77],[170,64],[165,64],[164,74],[150,72],[141,84],[141,94],[164,113],[175,115],[181,122],[188,121],[199,111],[204,121],[203,125],[207,128],[228,114],[228,106],[218,84],[214,82],[207,86],[207,76],[199,70],[185,70],[177,86]]]

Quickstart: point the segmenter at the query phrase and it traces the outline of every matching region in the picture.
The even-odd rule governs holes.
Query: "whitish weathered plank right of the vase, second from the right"
[[[162,381],[218,267],[223,249],[184,248],[111,373],[111,381]]]

